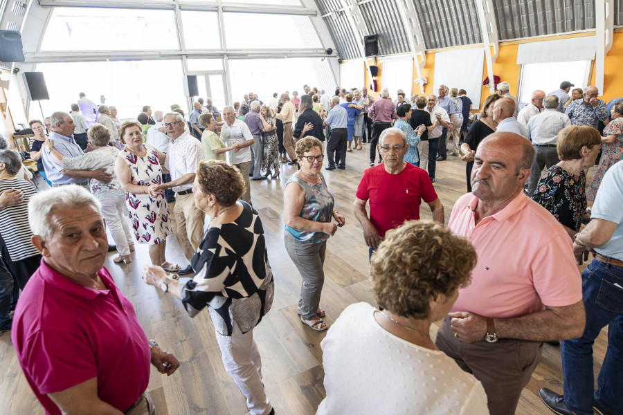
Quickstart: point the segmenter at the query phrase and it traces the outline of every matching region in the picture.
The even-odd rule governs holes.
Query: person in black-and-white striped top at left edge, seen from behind
[[[36,190],[23,176],[16,176],[20,169],[21,158],[16,151],[0,150],[0,195],[21,192],[21,201],[16,198],[19,203],[0,205],[0,237],[3,239],[0,256],[17,280],[19,289],[24,290],[30,275],[39,268],[41,255],[30,242],[33,232],[28,227],[28,202]],[[10,298],[10,288],[3,295]]]

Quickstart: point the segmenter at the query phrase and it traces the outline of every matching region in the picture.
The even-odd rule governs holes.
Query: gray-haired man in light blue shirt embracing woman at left
[[[57,111],[52,114],[51,118],[52,132],[48,137],[54,144],[54,149],[66,157],[78,157],[84,153],[79,145],[73,140],[73,130],[75,124],[73,118],[68,113]],[[88,187],[89,178],[95,178],[98,181],[109,183],[112,180],[112,174],[107,173],[106,169],[98,170],[64,170],[56,159],[50,156],[48,150],[42,151],[42,160],[46,172],[46,178],[52,182],[52,187],[62,185],[81,185]]]

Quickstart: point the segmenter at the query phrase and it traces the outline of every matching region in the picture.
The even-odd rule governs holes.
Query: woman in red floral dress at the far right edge
[[[610,115],[612,121],[604,128],[602,138],[602,157],[599,159],[599,165],[593,174],[593,180],[590,181],[586,195],[589,201],[595,201],[604,174],[623,158],[623,101],[613,105]]]

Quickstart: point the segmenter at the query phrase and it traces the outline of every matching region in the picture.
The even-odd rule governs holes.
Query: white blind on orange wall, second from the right
[[[482,70],[485,67],[485,49],[469,48],[435,53],[433,86],[435,95],[440,85],[464,89],[473,103],[472,109],[480,107]]]

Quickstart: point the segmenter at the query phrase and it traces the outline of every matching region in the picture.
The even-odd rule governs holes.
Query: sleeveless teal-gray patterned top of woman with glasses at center
[[[330,222],[333,217],[335,199],[331,192],[329,192],[323,174],[318,174],[318,177],[320,177],[320,184],[314,185],[293,174],[288,179],[286,186],[289,185],[290,182],[294,182],[305,192],[303,208],[301,208],[298,216],[308,221],[327,223]],[[294,239],[300,243],[320,243],[329,239],[329,234],[325,234],[325,232],[305,232],[290,228],[288,225],[285,226],[285,230],[290,232]]]

